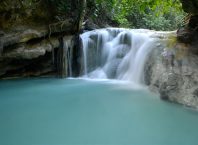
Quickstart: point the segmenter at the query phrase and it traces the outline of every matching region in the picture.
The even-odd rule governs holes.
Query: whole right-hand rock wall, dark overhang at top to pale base
[[[177,30],[178,46],[172,45],[174,55],[169,58],[162,56],[166,46],[155,49],[145,68],[145,81],[161,99],[198,108],[198,0],[180,1],[189,15],[186,25]]]

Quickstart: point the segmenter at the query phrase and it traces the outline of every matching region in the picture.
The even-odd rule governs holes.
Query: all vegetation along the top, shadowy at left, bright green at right
[[[0,2],[0,12],[1,9],[9,10],[9,7],[16,7],[17,12],[19,9],[30,11],[42,2],[43,7],[50,6],[48,9],[55,14],[57,21],[68,17],[78,21],[80,16],[85,15],[85,20],[91,19],[103,27],[175,30],[183,25],[186,16],[180,0],[16,0],[11,6],[8,5],[9,1]],[[77,13],[85,11],[86,14],[78,16]]]

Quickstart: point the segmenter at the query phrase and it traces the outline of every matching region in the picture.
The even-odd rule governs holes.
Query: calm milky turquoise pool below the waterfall
[[[1,145],[195,145],[198,113],[111,81],[0,81]]]

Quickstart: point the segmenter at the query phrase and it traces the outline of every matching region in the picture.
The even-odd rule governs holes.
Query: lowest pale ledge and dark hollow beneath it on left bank
[[[73,36],[65,36],[71,41]],[[56,71],[57,37],[31,39],[26,43],[8,45],[0,56],[0,78],[51,74]],[[72,48],[73,44],[68,43]],[[54,75],[54,74],[53,74]]]

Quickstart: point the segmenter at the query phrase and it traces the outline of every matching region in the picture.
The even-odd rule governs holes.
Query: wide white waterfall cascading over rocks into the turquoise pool
[[[144,83],[144,66],[164,32],[107,28],[85,32],[84,77]]]

